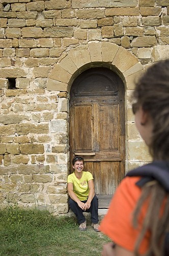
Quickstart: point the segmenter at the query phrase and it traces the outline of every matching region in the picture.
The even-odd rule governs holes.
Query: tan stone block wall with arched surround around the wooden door
[[[0,205],[68,211],[69,100],[87,69],[125,86],[126,172],[151,160],[131,111],[134,81],[169,57],[168,0],[0,1]]]

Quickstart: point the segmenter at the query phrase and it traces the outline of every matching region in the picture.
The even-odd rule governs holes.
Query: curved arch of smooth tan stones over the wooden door
[[[92,67],[114,70],[127,90],[134,89],[135,78],[144,72],[142,63],[129,50],[112,42],[90,41],[61,56],[49,75],[47,90],[69,93],[78,74]]]

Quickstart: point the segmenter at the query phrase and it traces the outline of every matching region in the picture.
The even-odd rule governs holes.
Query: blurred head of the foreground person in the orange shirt
[[[169,160],[169,59],[154,63],[138,80],[135,124],[154,160]]]

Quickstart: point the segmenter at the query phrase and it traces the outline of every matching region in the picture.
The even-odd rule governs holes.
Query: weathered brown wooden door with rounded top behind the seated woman
[[[108,207],[125,175],[124,85],[109,69],[87,70],[72,84],[71,161],[75,155],[85,158],[85,170],[94,176],[99,208]]]

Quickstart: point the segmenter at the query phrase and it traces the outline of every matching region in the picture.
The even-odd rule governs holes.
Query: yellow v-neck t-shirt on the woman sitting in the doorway
[[[85,201],[89,196],[88,181],[93,180],[90,172],[82,172],[81,179],[77,179],[75,174],[72,173],[68,176],[68,183],[73,183],[73,191],[80,201]]]

